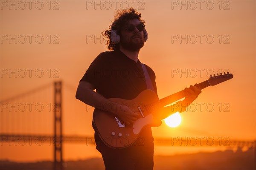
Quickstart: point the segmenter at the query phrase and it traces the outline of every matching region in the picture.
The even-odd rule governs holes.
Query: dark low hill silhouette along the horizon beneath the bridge
[[[17,163],[0,161],[1,170],[52,170],[51,161]],[[104,170],[100,158],[64,162],[63,170]],[[214,153],[154,156],[154,170],[256,170],[256,151],[239,148]]]

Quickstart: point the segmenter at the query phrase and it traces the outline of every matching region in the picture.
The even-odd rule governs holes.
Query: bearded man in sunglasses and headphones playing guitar
[[[103,33],[108,40],[107,51],[99,54],[79,82],[76,98],[109,114],[118,116],[125,125],[134,123],[140,113],[126,105],[120,105],[109,98],[134,99],[151,83],[157,94],[154,71],[138,59],[140,48],[147,39],[145,21],[133,8],[119,11],[111,30]],[[145,71],[146,69],[146,71]],[[147,73],[146,73],[147,72]],[[148,75],[148,79],[145,75]],[[150,83],[148,83],[150,82]],[[93,91],[96,89],[96,92]],[[189,105],[201,93],[196,86],[186,88],[188,96],[181,102]],[[104,107],[104,106],[113,107]],[[175,113],[172,106],[163,108],[169,115]],[[102,153],[106,170],[153,170],[154,143],[151,127],[144,128],[137,141],[124,149],[106,146],[95,130],[96,149]]]

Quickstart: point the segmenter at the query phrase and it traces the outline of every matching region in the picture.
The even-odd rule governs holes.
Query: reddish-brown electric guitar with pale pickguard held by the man
[[[217,85],[221,82],[232,79],[233,75],[224,74],[215,75],[198,84],[200,89],[210,85]],[[119,98],[111,98],[109,100],[121,105],[134,108],[140,113],[138,119],[132,125],[125,125],[116,114],[95,109],[93,112],[93,122],[102,141],[113,148],[125,148],[134,143],[140,131],[144,127],[157,127],[161,125],[161,120],[157,119],[157,111],[166,105],[169,105],[186,96],[186,91],[182,90],[163,99],[158,99],[157,95],[151,90],[142,91],[135,99],[125,100]],[[164,118],[165,119],[165,118]]]

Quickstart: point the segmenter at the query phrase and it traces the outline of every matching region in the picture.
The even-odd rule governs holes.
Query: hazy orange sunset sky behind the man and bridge
[[[61,79],[64,82],[64,95],[67,97],[64,99],[64,134],[92,136],[93,109],[86,112],[85,105],[74,99],[75,88],[93,59],[102,51],[108,50],[105,41],[101,39],[101,32],[111,24],[116,9],[125,8],[128,4],[141,12],[146,22],[148,40],[140,51],[139,59],[154,70],[160,98],[208,79],[211,71],[220,73],[229,70],[234,75],[227,82],[204,89],[195,101],[198,108],[195,111],[191,108],[181,114],[182,123],[179,127],[170,128],[163,124],[152,128],[154,137],[213,136],[229,137],[231,140],[256,138],[255,1],[203,1],[202,4],[198,1],[182,1],[183,4],[187,3],[187,9],[180,1],[165,0],[118,1],[116,4],[112,1],[97,1],[98,6],[94,4],[95,1],[51,1],[51,6],[48,1],[41,1],[42,7],[35,1],[31,4],[31,10],[29,3],[25,8],[24,4],[12,1],[13,4],[17,3],[15,9],[15,6],[10,6],[11,1],[0,2],[1,101]],[[40,8],[42,9],[39,10]],[[9,42],[9,36],[15,39],[15,35],[17,44],[15,40]],[[41,37],[44,41],[39,43]],[[91,37],[92,40],[89,39]],[[177,37],[183,40],[175,40]],[[15,69],[20,74],[26,70],[27,76],[23,78],[19,74],[17,77],[9,75],[9,71]],[[29,77],[31,69],[34,70]],[[42,70],[44,76],[39,78],[35,74],[36,70]],[[4,71],[8,73],[4,74]],[[174,71],[178,71],[178,74],[173,74]],[[186,71],[187,75],[180,74]],[[73,91],[65,91],[65,83],[74,87]],[[52,102],[52,98],[49,102]],[[198,103],[204,103],[201,110]],[[213,105],[213,111],[209,111],[206,105]],[[21,121],[16,121],[19,120]],[[7,122],[1,119],[0,123],[3,125]],[[51,132],[51,126],[49,121],[47,132]],[[3,130],[6,131],[2,128],[1,133]],[[14,157],[17,152],[15,147],[3,146],[0,146],[0,159],[26,161],[52,158],[49,146],[35,149],[43,152],[42,156],[27,158]],[[79,153],[79,146],[76,144],[76,149],[70,151],[71,154],[64,152],[65,158],[99,156],[93,146],[82,147],[84,153]],[[24,146],[18,147],[18,150],[25,151],[26,147],[32,148]],[[65,145],[65,148],[71,147],[74,145]],[[42,151],[42,148],[48,150]],[[155,153],[172,153],[172,149],[156,147]],[[200,148],[195,150],[199,151]],[[29,152],[34,155],[32,150]]]

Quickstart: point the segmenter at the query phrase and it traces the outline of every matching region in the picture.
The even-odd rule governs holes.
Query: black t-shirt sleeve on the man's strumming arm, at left
[[[102,66],[104,64],[104,57],[102,53],[99,54],[93,62],[90,64],[89,68],[85,72],[84,76],[81,78],[81,81],[89,82],[93,87],[98,88],[102,78]]]

